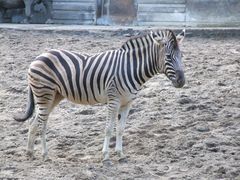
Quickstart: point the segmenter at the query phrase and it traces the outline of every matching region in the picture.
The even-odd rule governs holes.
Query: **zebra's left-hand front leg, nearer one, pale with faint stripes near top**
[[[103,143],[103,162],[109,160],[109,143],[114,128],[120,102],[118,100],[108,102],[107,124],[105,128],[105,139]]]

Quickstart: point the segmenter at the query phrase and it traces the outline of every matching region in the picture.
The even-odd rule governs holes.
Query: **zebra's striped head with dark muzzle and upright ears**
[[[177,36],[171,30],[152,32],[154,43],[160,48],[159,73],[164,73],[176,88],[185,84],[182,53],[179,44],[184,39],[185,30]]]

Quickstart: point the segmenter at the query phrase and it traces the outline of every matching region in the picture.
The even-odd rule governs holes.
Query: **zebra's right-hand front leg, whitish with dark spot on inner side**
[[[125,156],[123,154],[123,148],[122,148],[122,142],[123,142],[123,132],[126,125],[126,119],[129,113],[131,107],[131,103],[128,103],[127,105],[123,106],[119,110],[119,119],[117,121],[117,128],[116,128],[116,147],[115,151],[117,155],[119,156],[119,160],[125,159]]]

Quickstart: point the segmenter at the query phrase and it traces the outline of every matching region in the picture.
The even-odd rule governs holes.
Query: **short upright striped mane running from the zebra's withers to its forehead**
[[[131,43],[132,41],[134,40],[137,40],[139,38],[145,38],[146,36],[150,35],[150,33],[153,32],[153,33],[160,33],[160,32],[169,32],[168,34],[170,35],[170,39],[173,39],[173,47],[174,48],[177,48],[178,47],[178,43],[177,43],[177,39],[176,39],[176,36],[175,34],[173,33],[172,30],[169,30],[169,29],[166,29],[166,30],[154,30],[154,31],[145,31],[143,32],[142,34],[140,35],[137,35],[137,36],[133,36],[131,38],[129,38],[127,41],[125,41],[121,48],[125,48],[127,44]]]

